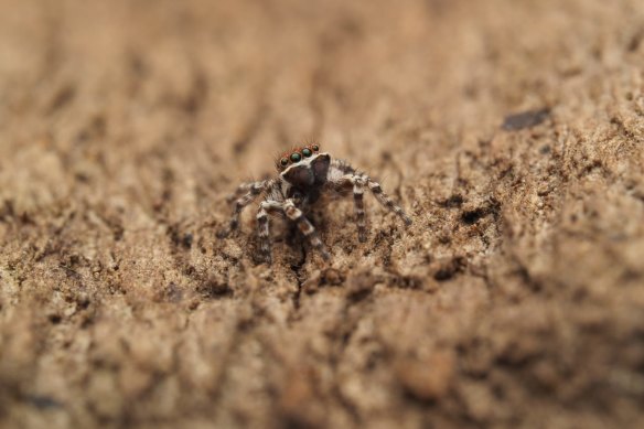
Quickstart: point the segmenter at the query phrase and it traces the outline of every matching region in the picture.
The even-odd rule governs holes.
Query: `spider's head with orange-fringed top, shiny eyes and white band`
[[[320,146],[313,143],[282,153],[277,160],[277,170],[291,185],[305,189],[326,181],[330,163],[329,153],[321,153]]]

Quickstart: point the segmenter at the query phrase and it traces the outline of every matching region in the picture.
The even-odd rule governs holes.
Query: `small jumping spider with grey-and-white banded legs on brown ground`
[[[221,233],[221,237],[224,237],[236,229],[239,226],[239,215],[244,207],[259,195],[266,194],[257,211],[257,228],[261,259],[267,264],[272,261],[269,214],[286,216],[296,223],[299,230],[321,254],[322,258],[324,260],[331,258],[315,228],[305,216],[305,213],[323,195],[346,196],[353,190],[357,236],[361,243],[367,239],[363,202],[365,189],[368,189],[384,207],[396,213],[407,226],[411,225],[411,218],[383,191],[378,182],[356,171],[347,162],[332,159],[329,153],[320,150],[319,144],[293,148],[282,153],[276,160],[276,168],[279,173],[278,178],[243,183],[228,197],[229,202],[235,199],[236,201],[228,229]]]

